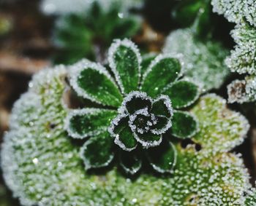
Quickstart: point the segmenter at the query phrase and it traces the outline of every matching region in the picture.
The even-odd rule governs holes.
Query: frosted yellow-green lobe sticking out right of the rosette
[[[249,130],[249,122],[236,111],[230,111],[226,100],[209,94],[200,98],[192,108],[199,130],[192,140],[208,152],[230,151],[241,144]]]

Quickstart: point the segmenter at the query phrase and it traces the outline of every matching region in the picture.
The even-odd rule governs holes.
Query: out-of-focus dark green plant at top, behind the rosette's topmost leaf
[[[97,58],[103,62],[105,50],[110,46],[112,39],[133,36],[140,28],[140,17],[129,12],[129,9],[136,6],[132,4],[134,1],[85,2],[85,7],[79,7],[83,12],[72,11],[56,20],[53,44],[59,51],[54,55],[55,63],[70,64],[81,58]],[[70,3],[75,4],[73,1],[64,1],[63,5]],[[59,4],[62,4],[62,1]]]

